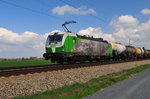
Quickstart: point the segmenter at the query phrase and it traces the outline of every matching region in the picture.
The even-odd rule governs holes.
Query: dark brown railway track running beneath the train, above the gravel
[[[9,77],[16,75],[25,75],[25,74],[33,74],[47,71],[57,71],[64,69],[72,69],[72,68],[82,68],[82,67],[90,67],[90,66],[100,66],[105,64],[116,64],[116,63],[125,63],[132,61],[142,61],[148,59],[140,59],[140,60],[126,60],[126,61],[109,61],[109,62],[93,62],[93,63],[82,63],[82,64],[53,64],[53,65],[40,65],[40,66],[24,66],[24,67],[7,67],[0,68],[0,77]]]

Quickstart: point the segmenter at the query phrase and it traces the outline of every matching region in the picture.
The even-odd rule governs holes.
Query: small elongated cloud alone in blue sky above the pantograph
[[[85,15],[85,14],[94,14],[96,12],[91,8],[90,9],[86,9],[86,7],[74,8],[69,5],[65,5],[65,6],[57,6],[56,8],[53,8],[52,13],[58,15],[64,15],[65,13]]]

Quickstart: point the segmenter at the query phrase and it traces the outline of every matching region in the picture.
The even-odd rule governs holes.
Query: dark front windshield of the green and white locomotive
[[[48,36],[47,42],[49,42],[49,44],[61,42],[62,38],[63,38],[63,34],[55,33],[54,35],[49,35]]]

